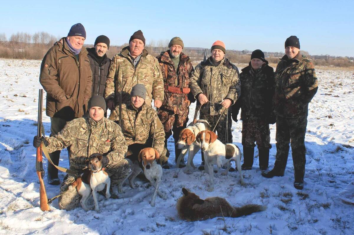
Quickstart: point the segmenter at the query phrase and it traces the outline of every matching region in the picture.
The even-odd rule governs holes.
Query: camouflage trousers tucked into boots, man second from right
[[[254,148],[255,142],[258,149],[270,149],[269,124],[264,118],[249,118],[242,120],[242,145]]]

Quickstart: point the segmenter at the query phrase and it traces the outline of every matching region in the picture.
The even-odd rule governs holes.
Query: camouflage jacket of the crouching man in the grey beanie
[[[119,106],[109,115],[109,120],[119,121]],[[161,154],[165,144],[164,127],[156,111],[143,104],[140,110],[133,105],[122,104],[123,135],[128,145],[134,143],[147,144]]]

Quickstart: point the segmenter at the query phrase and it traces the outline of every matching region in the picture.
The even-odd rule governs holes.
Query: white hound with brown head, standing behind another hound
[[[193,164],[193,158],[196,153],[200,150],[200,144],[195,141],[196,136],[200,131],[211,130],[209,122],[204,119],[197,120],[193,125],[193,122],[188,124],[188,127],[184,128],[181,133],[179,133],[179,140],[176,147],[182,149],[181,154],[179,154],[176,167],[179,167],[179,162],[181,162],[185,153],[188,151],[187,166],[184,169],[185,173],[190,173],[192,168],[196,168]]]

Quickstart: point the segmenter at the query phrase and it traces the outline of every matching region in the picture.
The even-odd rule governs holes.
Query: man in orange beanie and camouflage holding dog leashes
[[[211,57],[195,67],[189,83],[193,96],[198,98],[202,105],[200,119],[207,120],[214,128],[221,116],[216,131],[218,139],[224,144],[232,143],[229,107],[236,102],[241,93],[239,70],[224,57],[225,52],[223,42],[214,42]],[[203,165],[204,159],[202,160]]]

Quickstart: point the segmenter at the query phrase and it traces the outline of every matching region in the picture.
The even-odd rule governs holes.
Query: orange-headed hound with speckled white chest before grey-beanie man
[[[143,171],[145,177],[150,181],[151,185],[155,188],[151,197],[150,205],[155,206],[156,194],[160,197],[164,197],[159,192],[159,186],[162,177],[162,166],[160,162],[160,154],[154,148],[146,148],[144,144],[131,144],[128,147],[127,158],[132,160],[132,173],[127,178],[129,179],[129,185],[132,189],[135,189],[134,179],[137,175]],[[122,183],[124,180],[122,181]],[[121,183],[121,184],[122,184]]]

